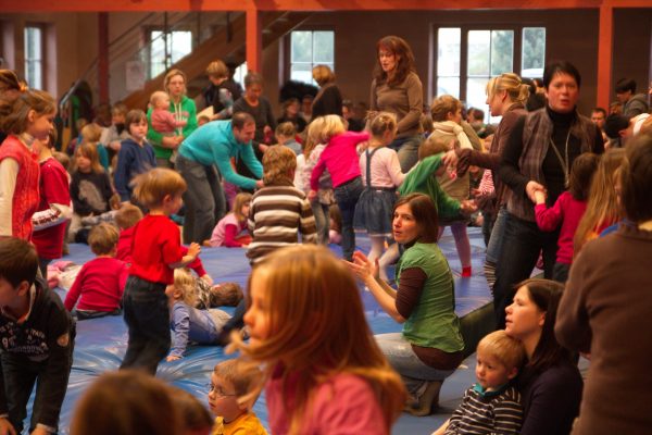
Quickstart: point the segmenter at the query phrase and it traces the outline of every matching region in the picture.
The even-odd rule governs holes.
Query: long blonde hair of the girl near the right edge
[[[624,148],[614,148],[602,154],[598,170],[591,181],[587,211],[575,232],[574,256],[577,256],[587,241],[598,236],[597,229],[605,224],[616,223],[620,217],[620,207],[616,189],[616,171],[625,159]]]

